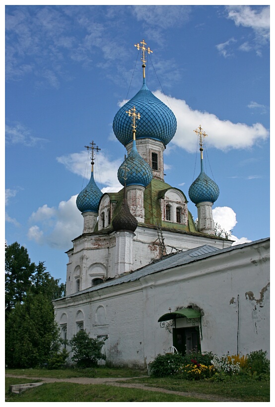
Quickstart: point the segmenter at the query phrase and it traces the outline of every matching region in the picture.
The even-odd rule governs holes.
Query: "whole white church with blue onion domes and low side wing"
[[[269,353],[270,239],[232,246],[215,235],[219,188],[204,170],[201,125],[201,172],[188,191],[196,223],[184,192],[165,183],[163,151],[177,121],[147,87],[146,45],[135,45],[142,86],[113,121],[128,152],[119,192],[102,194],[93,176],[99,148],[87,146],[91,177],[76,199],[83,231],[67,252],[66,296],[54,301],[62,337],[84,329],[106,339],[114,365],[146,367],[171,346],[181,353]]]

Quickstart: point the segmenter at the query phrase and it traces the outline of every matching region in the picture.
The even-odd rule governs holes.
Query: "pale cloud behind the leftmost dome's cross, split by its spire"
[[[72,153],[57,157],[58,162],[64,164],[65,167],[74,174],[81,175],[87,179],[91,176],[90,160],[87,159],[87,153],[85,151],[80,153]],[[96,161],[94,166],[94,178],[99,188],[102,188],[102,184],[107,187],[121,189],[121,184],[117,178],[117,170],[123,162],[124,157],[121,159],[112,160],[103,151],[96,154]],[[88,170],[86,170],[88,168]],[[100,171],[98,170],[100,168]]]

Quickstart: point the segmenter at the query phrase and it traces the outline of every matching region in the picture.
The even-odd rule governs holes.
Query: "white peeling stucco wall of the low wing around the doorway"
[[[108,335],[106,354],[116,364],[144,366],[172,345],[172,334],[158,318],[178,307],[203,310],[202,351],[246,354],[270,351],[269,241],[234,249],[135,281],[94,288],[55,301],[56,320],[68,339],[84,315],[91,337]],[[97,321],[103,307],[106,319]],[[101,313],[102,315],[102,313]]]

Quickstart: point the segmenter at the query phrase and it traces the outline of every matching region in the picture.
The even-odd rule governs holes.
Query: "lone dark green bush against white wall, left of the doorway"
[[[76,362],[78,367],[93,367],[97,365],[99,359],[106,360],[106,355],[101,353],[104,340],[90,338],[86,330],[77,332],[69,340],[69,345],[73,352],[71,360]]]

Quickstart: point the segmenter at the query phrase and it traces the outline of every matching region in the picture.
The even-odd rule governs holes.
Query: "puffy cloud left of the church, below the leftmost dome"
[[[58,207],[39,207],[29,218],[35,223],[29,227],[28,238],[39,245],[48,245],[65,250],[71,246],[71,240],[82,233],[83,217],[76,207],[76,197],[62,201]]]

